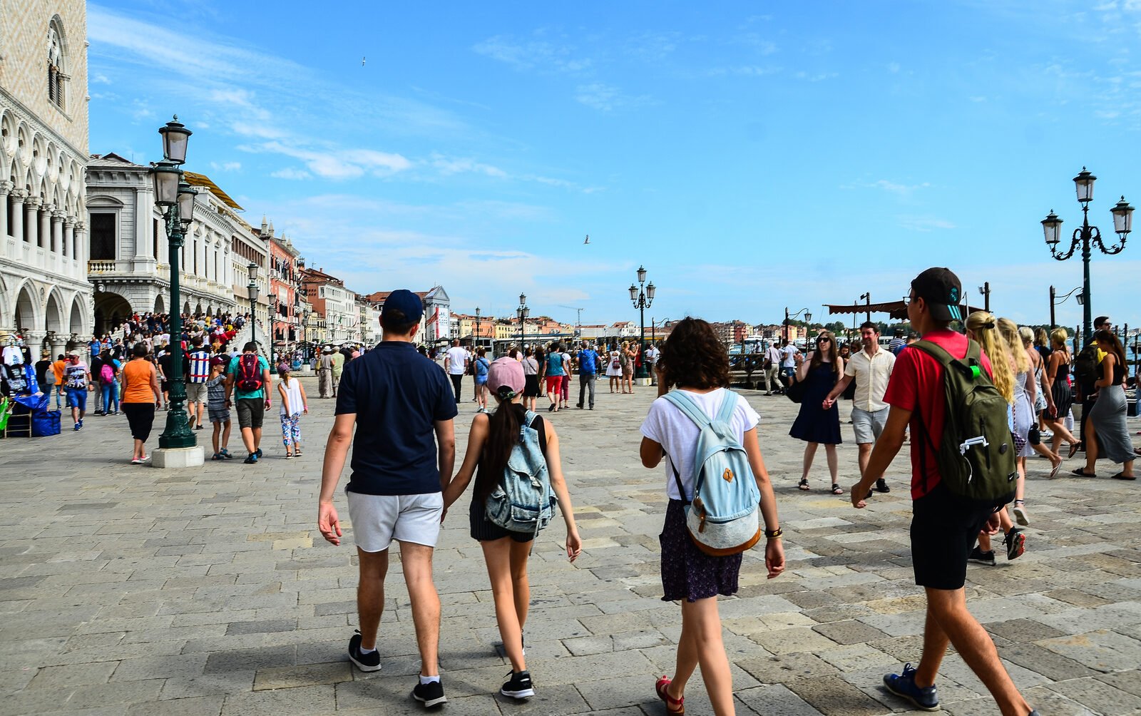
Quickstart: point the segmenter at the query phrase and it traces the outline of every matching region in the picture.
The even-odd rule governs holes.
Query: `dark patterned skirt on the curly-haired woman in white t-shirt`
[[[696,602],[737,592],[741,554],[711,556],[697,548],[686,530],[686,511],[680,499],[665,508],[665,524],[658,535],[662,544],[663,602]]]

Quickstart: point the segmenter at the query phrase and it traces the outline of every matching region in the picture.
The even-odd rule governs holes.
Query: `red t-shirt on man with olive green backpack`
[[[931,331],[923,335],[924,341],[931,341],[956,358],[966,356],[966,336],[954,331]],[[990,373],[990,359],[981,353],[982,369]],[[934,449],[939,449],[942,439],[942,422],[946,415],[947,397],[942,388],[942,365],[930,353],[921,349],[905,348],[896,358],[896,366],[888,381],[884,402],[892,407],[912,412],[912,499],[919,499],[934,486],[939,485],[939,467],[936,464]],[[919,412],[916,413],[916,407]],[[931,444],[923,437],[919,416],[923,416],[923,425],[931,436]],[[926,455],[926,479],[920,463],[920,450]],[[925,489],[924,489],[925,488]]]

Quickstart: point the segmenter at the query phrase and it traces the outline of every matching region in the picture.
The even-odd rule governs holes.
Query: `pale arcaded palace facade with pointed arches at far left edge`
[[[91,334],[87,6],[0,0],[0,341]]]

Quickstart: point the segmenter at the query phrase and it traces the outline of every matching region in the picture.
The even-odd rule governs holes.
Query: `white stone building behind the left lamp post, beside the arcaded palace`
[[[224,192],[204,185],[197,190],[194,220],[178,257],[179,310],[192,316],[232,312],[237,309],[233,237],[248,225]],[[87,166],[87,194],[95,332],[110,333],[131,314],[169,312],[170,243],[148,168],[116,154],[95,155]]]

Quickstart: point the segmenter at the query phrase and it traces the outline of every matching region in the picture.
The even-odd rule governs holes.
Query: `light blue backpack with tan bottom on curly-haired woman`
[[[678,467],[670,461],[678,493],[686,503],[689,536],[702,552],[714,556],[748,550],[761,538],[761,493],[745,448],[730,426],[739,399],[737,393],[725,391],[725,400],[712,421],[681,391],[670,391],[665,399],[701,430],[694,454],[693,497],[686,496]]]

